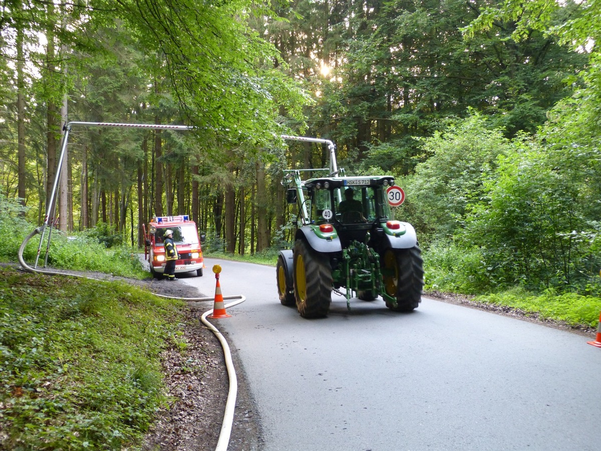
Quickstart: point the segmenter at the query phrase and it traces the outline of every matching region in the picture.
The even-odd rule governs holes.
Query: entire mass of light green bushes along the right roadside
[[[433,156],[404,181],[404,211],[428,248],[427,283],[471,294],[520,285],[599,295],[596,148],[566,138],[556,121],[543,142],[456,130],[427,140]]]

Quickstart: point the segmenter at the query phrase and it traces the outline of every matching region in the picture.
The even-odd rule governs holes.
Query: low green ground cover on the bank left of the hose
[[[123,283],[0,271],[0,447],[123,449],[165,402],[180,304]]]

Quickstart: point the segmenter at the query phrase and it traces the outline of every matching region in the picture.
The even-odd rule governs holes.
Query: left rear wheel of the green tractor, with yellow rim
[[[297,310],[303,318],[325,316],[332,301],[332,267],[329,259],[311,249],[306,241],[296,240],[293,268]]]

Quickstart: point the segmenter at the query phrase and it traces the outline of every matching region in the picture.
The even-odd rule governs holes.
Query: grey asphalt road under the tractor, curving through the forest
[[[279,303],[275,268],[207,259],[245,303],[216,320],[257,404],[264,451],[599,450],[601,349],[578,334],[424,298],[413,313],[333,295]]]

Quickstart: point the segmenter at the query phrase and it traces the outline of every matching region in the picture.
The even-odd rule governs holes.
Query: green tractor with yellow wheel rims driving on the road
[[[331,141],[282,138],[328,145],[330,167],[285,171],[288,203],[296,203],[299,213],[294,248],[278,256],[281,303],[296,304],[304,318],[325,316],[332,291],[346,297],[349,309],[353,293],[364,301],[381,296],[396,312],[418,307],[423,261],[413,226],[393,219],[389,193],[402,193],[394,177],[345,177]],[[304,171],[325,176],[302,180]]]

